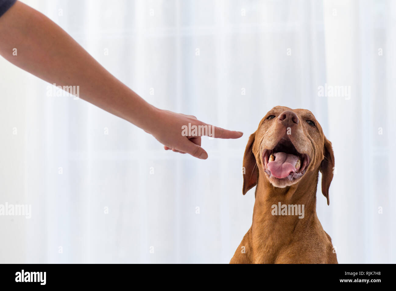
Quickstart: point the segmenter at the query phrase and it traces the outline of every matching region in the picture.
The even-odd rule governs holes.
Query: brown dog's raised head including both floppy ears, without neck
[[[309,110],[276,106],[268,111],[249,137],[243,163],[243,194],[257,184],[259,172],[273,186],[284,188],[299,183],[309,171],[321,171],[322,193],[329,204],[333,148]]]

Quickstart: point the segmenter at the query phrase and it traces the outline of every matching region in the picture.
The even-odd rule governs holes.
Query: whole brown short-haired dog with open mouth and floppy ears
[[[337,263],[316,216],[318,173],[329,204],[334,154],[314,115],[276,106],[246,145],[243,194],[257,184],[253,223],[230,263]]]

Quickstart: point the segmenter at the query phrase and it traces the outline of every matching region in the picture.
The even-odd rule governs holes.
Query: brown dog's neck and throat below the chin
[[[295,234],[303,236],[304,232],[317,223],[316,188],[318,171],[307,172],[299,183],[285,188],[276,188],[269,183],[264,172],[259,173],[256,198],[253,209],[252,235],[259,238],[253,245],[253,251],[261,253],[261,262],[274,262],[282,247],[296,239]],[[279,215],[281,205],[304,205],[304,218],[299,214]],[[273,206],[273,205],[276,205]],[[275,209],[275,210],[274,210]],[[279,211],[279,212],[278,212]],[[301,217],[301,215],[300,215]]]

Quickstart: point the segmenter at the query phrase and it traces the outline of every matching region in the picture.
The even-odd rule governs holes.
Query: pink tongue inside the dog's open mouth
[[[299,159],[298,156],[286,154],[286,152],[276,152],[274,156],[275,160],[267,164],[272,176],[283,179],[296,171],[295,165]]]

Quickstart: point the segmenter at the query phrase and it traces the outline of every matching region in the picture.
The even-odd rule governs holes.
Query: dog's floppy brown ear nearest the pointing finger
[[[256,186],[259,177],[259,171],[256,165],[256,158],[253,154],[253,143],[256,137],[256,132],[252,133],[247,142],[244,154],[243,175],[244,185],[242,193],[245,195],[247,191]]]

